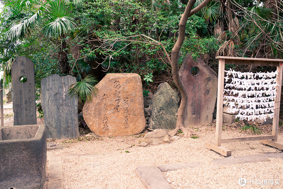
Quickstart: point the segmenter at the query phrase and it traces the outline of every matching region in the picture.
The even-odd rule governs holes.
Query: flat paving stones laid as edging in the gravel
[[[104,153],[91,154],[66,154],[63,158],[80,158],[91,156],[103,156],[110,154],[112,151]],[[226,166],[231,164],[246,164],[252,162],[271,161],[269,158],[283,159],[283,153],[268,153],[248,156],[230,156],[212,160],[218,166]],[[48,189],[63,189],[63,170],[61,155],[53,155],[49,158],[48,163]],[[136,175],[147,189],[173,189],[169,182],[165,179],[162,172],[183,169],[187,167],[198,167],[201,162],[188,164],[164,164],[160,166],[139,166],[135,169]]]

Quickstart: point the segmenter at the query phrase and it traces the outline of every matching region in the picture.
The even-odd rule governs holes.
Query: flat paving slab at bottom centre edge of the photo
[[[160,169],[155,166],[137,167],[135,173],[147,189],[173,189]]]

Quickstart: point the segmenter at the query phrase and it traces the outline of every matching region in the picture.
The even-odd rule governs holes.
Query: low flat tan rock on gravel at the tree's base
[[[155,129],[154,131],[145,134],[144,138],[138,140],[139,144],[142,142],[150,145],[158,145],[170,143],[171,139],[166,129]]]

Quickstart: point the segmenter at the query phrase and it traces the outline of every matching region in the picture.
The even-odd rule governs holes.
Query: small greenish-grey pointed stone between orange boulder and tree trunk
[[[148,126],[151,129],[176,128],[178,96],[168,83],[161,83],[149,105]]]

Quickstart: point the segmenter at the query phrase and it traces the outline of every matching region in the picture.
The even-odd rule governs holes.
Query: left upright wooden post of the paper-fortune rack
[[[219,59],[215,145],[221,146],[225,59]]]

